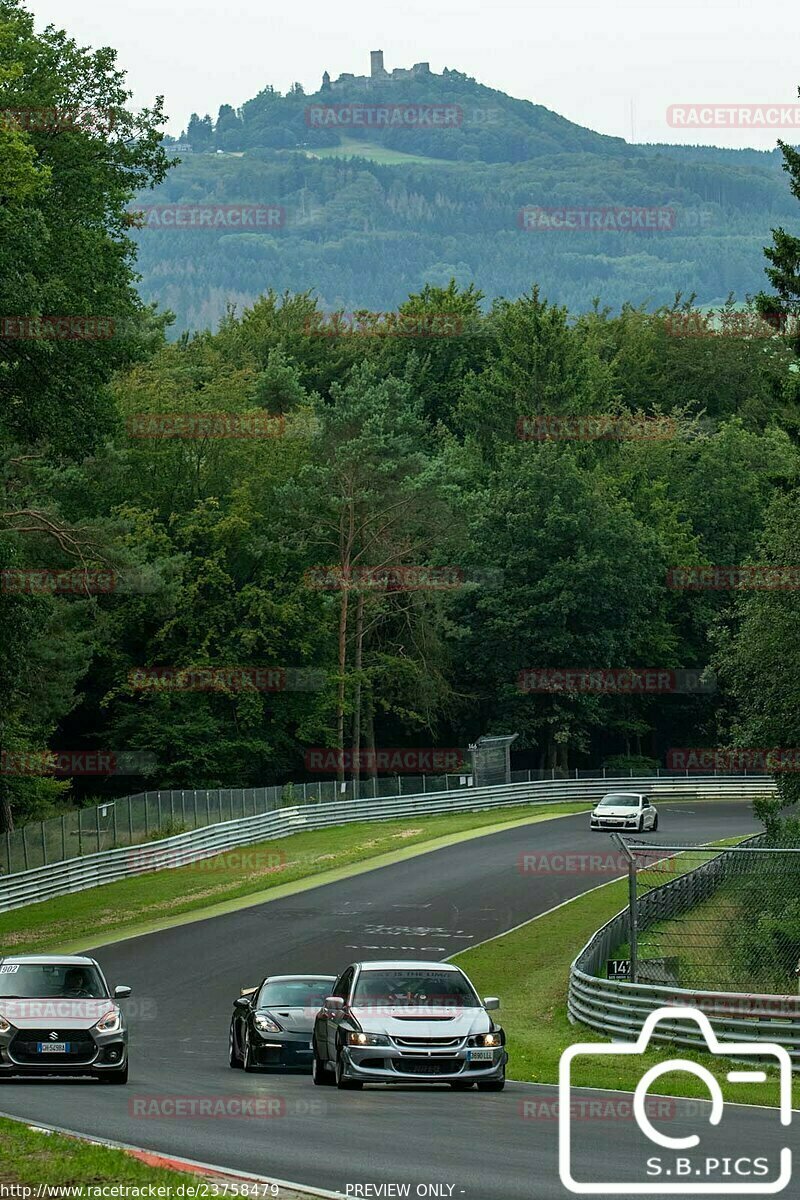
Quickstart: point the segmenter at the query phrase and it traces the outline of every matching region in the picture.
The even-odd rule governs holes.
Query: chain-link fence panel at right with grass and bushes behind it
[[[637,983],[789,995],[800,959],[800,848],[626,842]]]

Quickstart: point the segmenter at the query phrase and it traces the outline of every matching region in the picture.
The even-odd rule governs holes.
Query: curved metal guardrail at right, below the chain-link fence
[[[758,845],[750,839],[748,845]],[[654,888],[639,901],[639,926],[668,919],[709,896],[728,869],[734,853],[722,852],[702,866]],[[674,985],[603,979],[600,972],[628,940],[627,908],[612,917],[584,946],[570,970],[567,1008],[581,1021],[616,1040],[632,1042],[646,1016],[657,1008],[690,1007],[711,1020],[721,1042],[777,1042],[800,1070],[800,995],[705,991]],[[699,1027],[692,1022],[660,1022],[654,1038],[706,1049]]]

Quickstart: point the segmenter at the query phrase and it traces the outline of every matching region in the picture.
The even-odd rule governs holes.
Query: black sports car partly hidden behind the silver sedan
[[[230,1019],[230,1066],[311,1068],[314,1018],[336,976],[267,976],[245,988]]]

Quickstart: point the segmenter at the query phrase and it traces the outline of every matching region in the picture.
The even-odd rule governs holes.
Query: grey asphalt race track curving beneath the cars
[[[661,804],[660,811],[661,830],[646,835],[648,841],[693,844],[757,828],[746,802],[682,802]],[[553,1087],[509,1084],[497,1094],[425,1086],[338,1092],[313,1087],[306,1075],[246,1075],[227,1064],[230,1006],[241,986],[257,984],[267,972],[332,974],[359,959],[449,958],[609,877],[585,871],[527,874],[519,869],[521,856],[610,850],[610,840],[591,834],[587,815],[578,814],[456,844],[213,919],[88,948],[112,985],[134,989],[127,1002],[132,1004],[128,1087],[5,1082],[0,1109],[350,1195],[381,1195],[361,1186],[392,1183],[410,1184],[411,1196],[564,1198],[569,1193],[558,1176],[558,1122],[548,1108],[555,1098]],[[509,1070],[512,1078],[513,1060]],[[140,1115],[160,1097],[190,1097],[193,1103],[273,1098],[270,1108],[277,1115]],[[533,1100],[548,1104],[531,1106]],[[228,1104],[233,1106],[235,1100]],[[680,1102],[670,1114],[669,1132],[696,1132],[697,1110]],[[643,1139],[632,1121],[613,1115],[585,1122],[578,1133],[578,1177],[621,1181],[631,1178],[634,1163],[640,1165]],[[786,1139],[775,1112],[760,1109],[729,1109],[718,1133],[718,1145],[732,1154],[745,1145],[765,1153]],[[384,1189],[383,1194],[403,1193]]]

